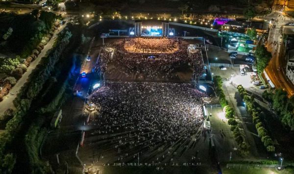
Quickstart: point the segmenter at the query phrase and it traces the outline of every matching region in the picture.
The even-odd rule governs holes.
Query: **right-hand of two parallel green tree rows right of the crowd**
[[[257,130],[257,133],[259,137],[261,138],[261,141],[263,142],[265,148],[268,151],[274,151],[274,142],[268,135],[268,131],[265,128],[265,125],[262,123],[262,115],[264,113],[258,107],[256,101],[254,100],[254,97],[249,97],[242,85],[238,85],[238,92],[240,96],[243,98],[246,104],[246,109],[248,113],[252,116],[253,123],[255,124],[255,128]]]

